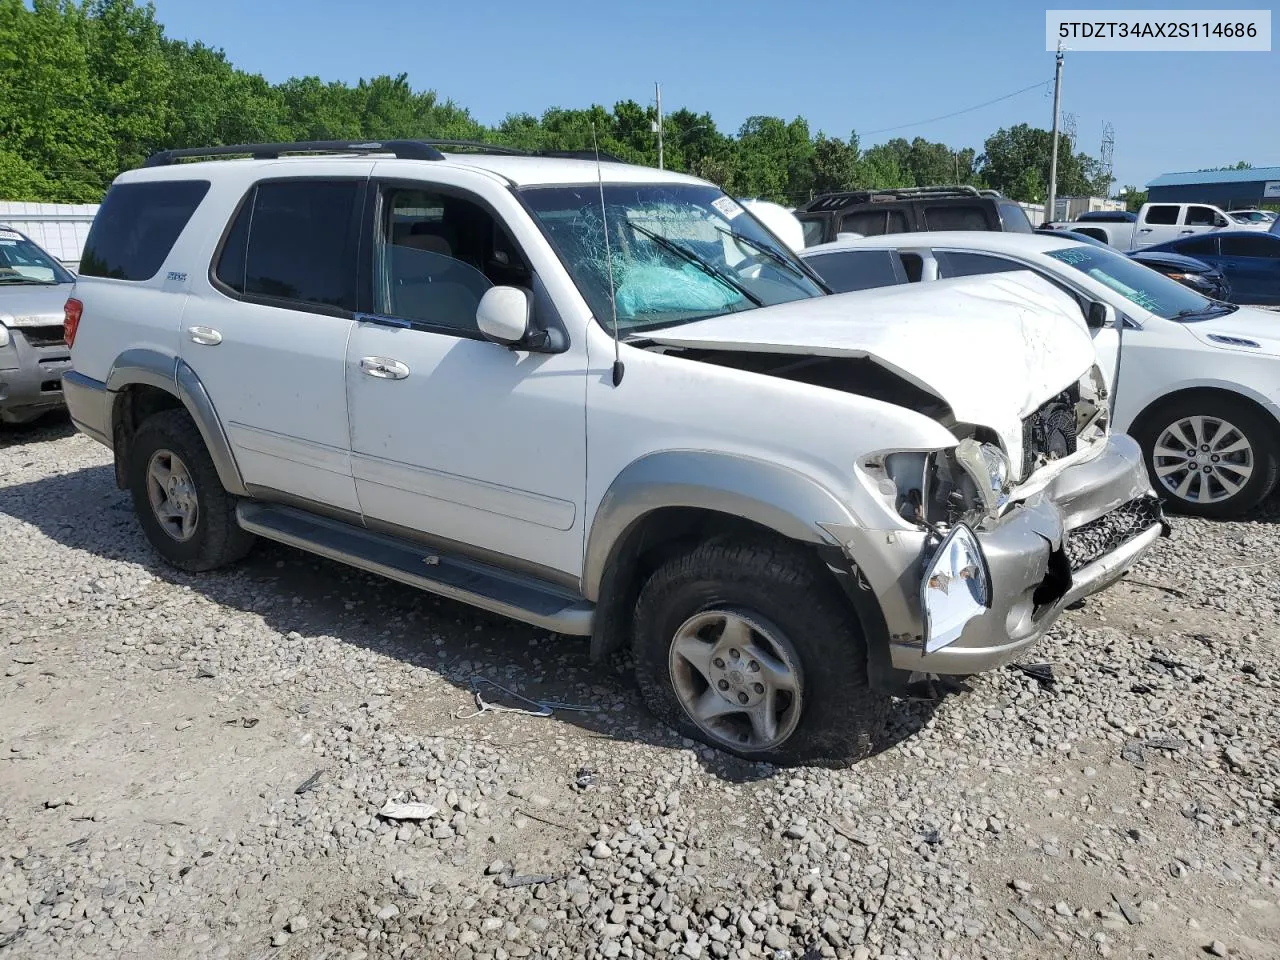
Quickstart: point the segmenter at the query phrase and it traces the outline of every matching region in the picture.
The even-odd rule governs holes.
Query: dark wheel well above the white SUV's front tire
[[[626,644],[631,614],[649,576],[682,548],[713,536],[795,543],[778,531],[732,513],[696,507],[662,507],[636,520],[613,545],[604,566],[591,634],[591,658]],[[818,562],[817,554],[814,561]]]

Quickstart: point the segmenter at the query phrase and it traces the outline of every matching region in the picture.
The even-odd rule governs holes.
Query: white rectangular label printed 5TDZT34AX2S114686
[[[1044,49],[1271,50],[1271,10],[1046,10]]]

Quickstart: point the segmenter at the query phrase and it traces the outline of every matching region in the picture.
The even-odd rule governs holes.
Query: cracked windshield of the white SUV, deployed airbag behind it
[[[714,187],[607,183],[603,215],[595,183],[522,195],[605,329],[612,266],[622,335],[823,293],[790,250]]]

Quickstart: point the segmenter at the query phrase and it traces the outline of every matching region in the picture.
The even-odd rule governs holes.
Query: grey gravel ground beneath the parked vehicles
[[[106,451],[0,443],[0,957],[1280,956],[1280,507],[1179,522],[1052,684],[778,771],[576,641],[270,545],[177,573]]]

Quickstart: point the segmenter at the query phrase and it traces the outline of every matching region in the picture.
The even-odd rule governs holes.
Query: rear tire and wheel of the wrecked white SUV
[[[195,573],[234,563],[252,549],[255,538],[236,522],[236,498],[223,489],[186,411],[147,417],[129,453],[133,511],[169,563]]]

